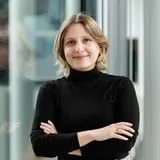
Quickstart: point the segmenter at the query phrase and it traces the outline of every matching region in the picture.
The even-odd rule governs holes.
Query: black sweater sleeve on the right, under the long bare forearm
[[[118,86],[117,86],[118,87]],[[121,159],[128,155],[134,146],[139,129],[139,105],[134,86],[127,77],[121,79],[118,87],[116,104],[116,122],[130,122],[133,124],[135,133],[128,137],[128,141],[109,139],[102,142],[92,142],[81,148],[82,155],[87,158],[102,157]]]

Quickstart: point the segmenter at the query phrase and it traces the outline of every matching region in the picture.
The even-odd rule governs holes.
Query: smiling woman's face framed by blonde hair
[[[71,68],[88,71],[95,67],[100,48],[80,23],[69,26],[64,37],[64,54]]]

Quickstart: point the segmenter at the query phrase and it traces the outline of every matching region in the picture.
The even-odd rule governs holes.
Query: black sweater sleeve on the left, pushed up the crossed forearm
[[[36,109],[31,129],[31,144],[36,156],[56,157],[79,149],[77,133],[45,134],[41,122],[51,120],[56,126],[56,84],[45,83],[38,92]]]

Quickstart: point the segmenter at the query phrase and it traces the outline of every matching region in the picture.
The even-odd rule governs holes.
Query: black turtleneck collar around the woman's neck
[[[71,68],[68,78],[72,81],[91,82],[99,78],[100,74],[101,72],[98,70],[97,67],[89,71],[77,71]]]

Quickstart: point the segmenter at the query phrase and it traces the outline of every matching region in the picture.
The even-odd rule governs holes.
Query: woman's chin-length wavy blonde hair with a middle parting
[[[75,23],[81,23],[86,31],[92,36],[92,38],[95,39],[97,44],[100,47],[100,53],[99,57],[96,62],[96,67],[101,70],[102,72],[107,70],[107,52],[108,52],[108,39],[104,35],[104,33],[99,28],[96,21],[90,17],[87,14],[79,13],[74,14],[70,18],[66,19],[61,27],[59,28],[59,31],[57,33],[55,42],[54,42],[54,48],[53,51],[55,53],[57,64],[59,65],[59,74],[63,73],[64,76],[68,76],[70,74],[70,66],[68,65],[65,54],[64,54],[64,37],[65,33],[68,29],[68,27],[71,24]]]

